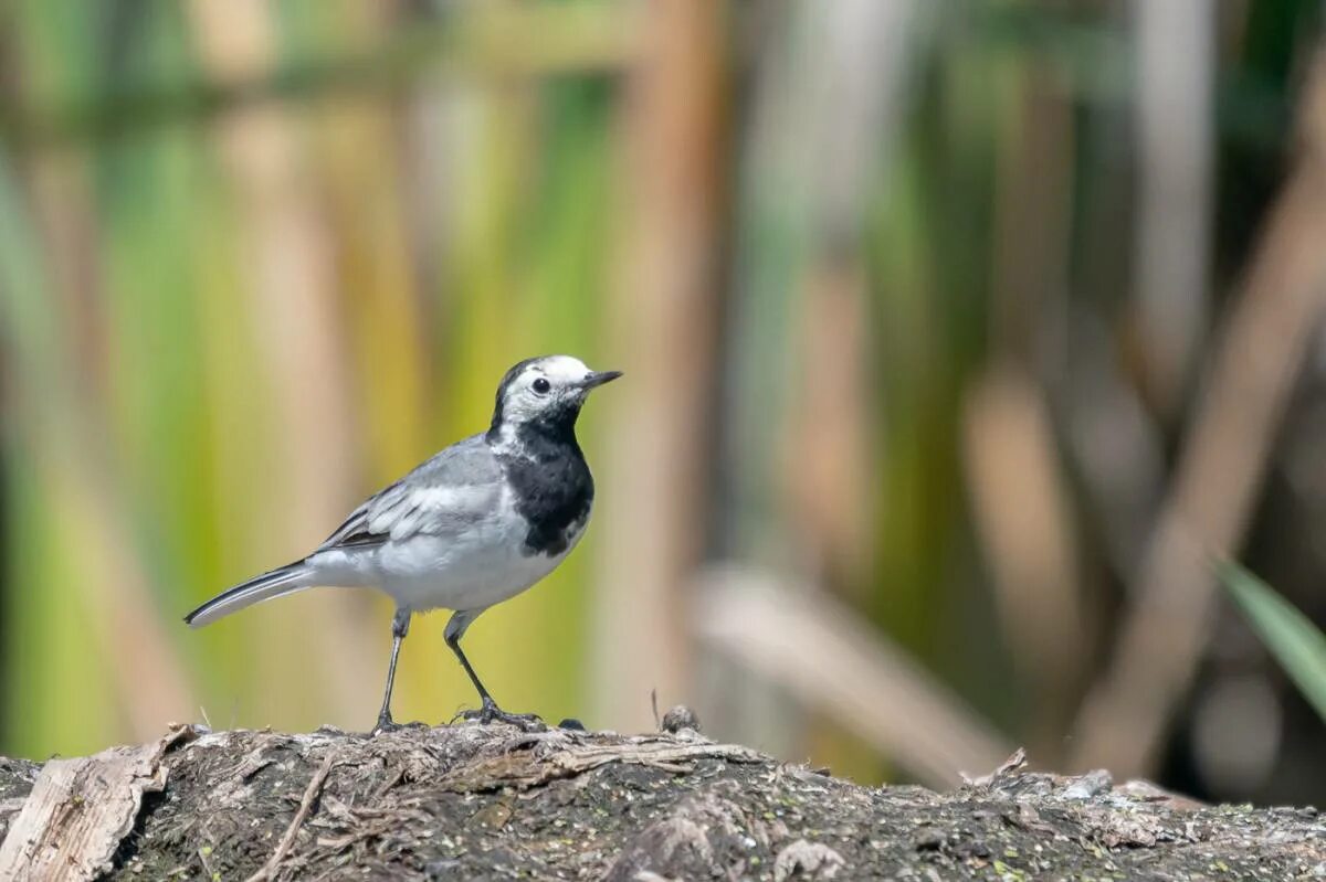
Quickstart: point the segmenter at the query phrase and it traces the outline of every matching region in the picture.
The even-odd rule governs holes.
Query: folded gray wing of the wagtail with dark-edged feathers
[[[481,434],[457,441],[365,501],[318,551],[455,534],[491,515],[501,501],[501,477]]]

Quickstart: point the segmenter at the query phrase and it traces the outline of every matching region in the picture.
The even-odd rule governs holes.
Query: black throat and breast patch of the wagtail
[[[575,442],[575,416],[548,415],[516,428],[516,444],[497,454],[528,530],[521,551],[554,558],[589,520],[594,478]]]

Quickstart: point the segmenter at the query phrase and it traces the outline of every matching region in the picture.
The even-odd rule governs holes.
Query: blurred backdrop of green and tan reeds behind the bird
[[[1326,621],[1317,0],[20,0],[0,752],[373,723],[389,603],[184,612],[572,352],[581,548],[499,701],[951,785],[1326,800],[1212,579]],[[396,718],[476,699],[446,614]]]

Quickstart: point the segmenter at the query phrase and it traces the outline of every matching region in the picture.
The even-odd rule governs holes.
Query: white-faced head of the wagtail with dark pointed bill
[[[507,371],[497,387],[488,440],[511,441],[521,428],[570,434],[590,389],[619,376],[621,371],[591,371],[570,355],[525,359]]]

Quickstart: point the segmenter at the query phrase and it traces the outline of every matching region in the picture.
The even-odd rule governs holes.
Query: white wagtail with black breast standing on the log
[[[391,683],[410,617],[452,609],[446,640],[483,699],[460,716],[517,726],[460,652],[465,629],[493,604],[553,571],[585,532],[594,479],[575,442],[575,417],[589,391],[621,371],[591,371],[550,355],[516,364],[497,387],[488,432],[459,441],[350,513],[302,560],[249,579],[188,613],[195,628],[314,585],[379,588],[396,601],[391,661],[378,728],[392,728]]]

